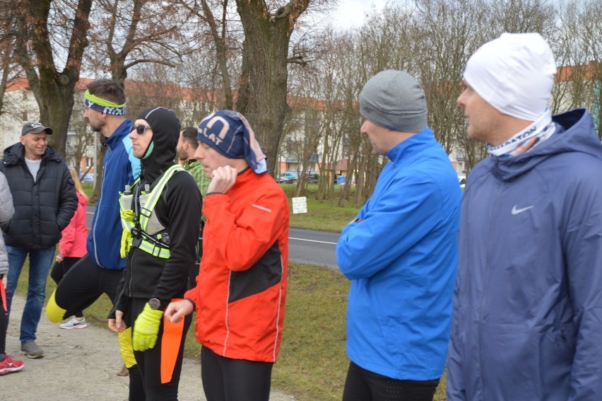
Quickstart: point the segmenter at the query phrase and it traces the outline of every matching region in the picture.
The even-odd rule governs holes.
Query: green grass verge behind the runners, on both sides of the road
[[[288,192],[293,190],[293,185],[291,188],[283,187]],[[84,184],[84,189],[91,192],[91,184]],[[336,207],[329,200],[318,202],[309,192],[307,214],[291,213],[290,226],[340,232],[358,210]],[[25,262],[17,289],[23,295],[27,289],[27,268],[28,262]],[[345,352],[349,285],[350,282],[339,272],[290,263],[283,342],[272,374],[274,388],[294,395],[299,401],[341,400],[349,364]],[[54,281],[49,279],[47,294],[52,294],[55,288]],[[105,318],[110,308],[109,298],[103,295],[84,314]],[[45,318],[42,315],[42,319]],[[87,321],[108,330],[105,324],[93,319]],[[193,323],[187,335],[185,355],[199,359],[200,350],[194,337]],[[442,378],[434,400],[446,400],[445,378]]]

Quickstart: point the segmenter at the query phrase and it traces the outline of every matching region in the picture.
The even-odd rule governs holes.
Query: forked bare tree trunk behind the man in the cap
[[[40,106],[40,121],[54,129],[50,144],[65,155],[73,92],[88,46],[92,0],[23,0],[13,3],[16,15],[16,56]],[[52,21],[52,23],[51,23]],[[64,38],[68,38],[65,44]],[[55,60],[64,59],[62,69]]]

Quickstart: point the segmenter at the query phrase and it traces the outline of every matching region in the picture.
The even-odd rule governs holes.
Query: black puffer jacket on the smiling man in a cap
[[[77,208],[77,196],[69,168],[58,153],[46,148],[34,181],[25,164],[22,144],[4,149],[0,171],[13,194],[15,214],[2,224],[6,245],[18,248],[50,248],[61,239]]]

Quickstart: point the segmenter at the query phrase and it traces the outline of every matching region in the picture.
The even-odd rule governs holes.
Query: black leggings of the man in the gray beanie
[[[439,379],[398,380],[367,371],[351,362],[343,401],[432,401]]]

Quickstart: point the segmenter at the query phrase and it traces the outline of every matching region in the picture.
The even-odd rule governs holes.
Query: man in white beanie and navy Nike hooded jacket
[[[462,200],[448,400],[602,400],[602,146],[586,109],[548,110],[555,72],[538,33],[466,64],[491,156]]]

